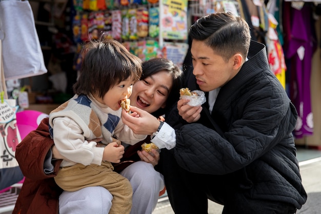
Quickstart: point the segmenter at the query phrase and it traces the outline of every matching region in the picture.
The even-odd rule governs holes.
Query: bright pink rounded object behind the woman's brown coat
[[[30,131],[35,130],[48,114],[41,111],[23,110],[16,113],[16,120],[21,139],[24,139]]]

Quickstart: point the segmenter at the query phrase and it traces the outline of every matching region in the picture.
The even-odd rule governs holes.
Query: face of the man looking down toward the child
[[[193,74],[202,91],[211,91],[225,85],[235,75],[233,57],[225,61],[204,42],[193,40],[191,46]]]

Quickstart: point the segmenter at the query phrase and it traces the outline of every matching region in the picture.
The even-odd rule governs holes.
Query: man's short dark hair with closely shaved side
[[[230,12],[212,13],[199,18],[189,30],[191,40],[204,41],[226,61],[235,53],[247,56],[250,47],[250,28],[240,16]]]

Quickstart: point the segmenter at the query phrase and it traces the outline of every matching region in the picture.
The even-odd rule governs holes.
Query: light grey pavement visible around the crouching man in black
[[[297,214],[321,213],[321,158],[299,163],[303,185],[308,193],[308,200]],[[223,206],[209,201],[209,214],[221,214]],[[174,214],[167,197],[160,198],[152,214]]]

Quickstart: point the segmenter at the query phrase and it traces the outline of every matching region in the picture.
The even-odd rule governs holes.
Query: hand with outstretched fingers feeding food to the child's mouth
[[[128,114],[125,110],[122,111],[122,120],[135,134],[151,135],[157,131],[160,122],[155,116],[134,106],[131,106],[130,110],[134,113]]]

